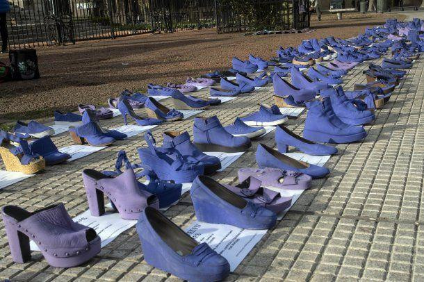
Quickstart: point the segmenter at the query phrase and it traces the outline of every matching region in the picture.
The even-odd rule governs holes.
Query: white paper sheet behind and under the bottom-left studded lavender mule
[[[101,239],[101,247],[106,246],[115,238],[117,238],[120,233],[126,231],[132,226],[136,225],[137,220],[125,220],[120,217],[119,213],[105,213],[100,217],[93,217],[90,214],[90,210],[85,210],[73,218],[74,222],[83,224],[85,226],[95,229],[97,235]],[[37,244],[31,241],[31,251],[40,251]]]

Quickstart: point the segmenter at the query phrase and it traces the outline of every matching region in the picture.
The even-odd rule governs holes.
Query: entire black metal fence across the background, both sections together
[[[309,26],[309,13],[302,13],[308,0],[240,1],[240,7],[226,0],[8,1],[12,49],[215,25],[219,33]]]

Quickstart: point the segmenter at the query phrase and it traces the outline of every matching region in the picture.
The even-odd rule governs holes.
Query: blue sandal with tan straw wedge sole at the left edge
[[[19,143],[19,147],[14,146],[10,141]],[[17,138],[6,131],[0,131],[0,156],[9,172],[35,174],[46,167],[44,158],[32,154],[26,140]]]

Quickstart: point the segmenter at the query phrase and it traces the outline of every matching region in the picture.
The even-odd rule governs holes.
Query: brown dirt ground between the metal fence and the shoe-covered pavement
[[[124,89],[145,90],[147,83],[181,83],[188,76],[230,67],[232,56],[270,58],[280,45],[294,47],[307,38],[350,38],[389,17],[403,19],[352,13],[342,20],[323,15],[317,22],[312,15],[311,33],[243,36],[208,29],[40,47],[40,79],[0,84],[0,124],[51,117],[54,110],[76,110],[79,103],[106,104]],[[8,61],[7,55],[0,60]]]

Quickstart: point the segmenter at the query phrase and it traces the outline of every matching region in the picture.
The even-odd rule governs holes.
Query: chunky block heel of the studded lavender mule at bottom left
[[[29,248],[29,238],[24,233],[17,230],[17,226],[4,221],[6,235],[8,235],[10,253],[15,263],[26,263],[31,260],[31,249]]]

